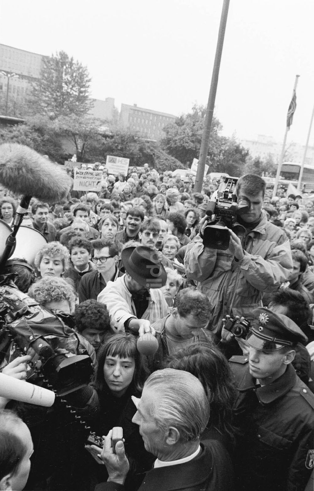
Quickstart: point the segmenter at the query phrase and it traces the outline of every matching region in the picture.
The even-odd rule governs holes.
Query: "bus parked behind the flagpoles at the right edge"
[[[288,184],[291,183],[297,188],[300,170],[301,164],[296,162],[283,162],[279,176],[279,184],[281,184],[282,187],[287,186],[288,188]],[[300,191],[314,192],[314,165],[304,165]]]

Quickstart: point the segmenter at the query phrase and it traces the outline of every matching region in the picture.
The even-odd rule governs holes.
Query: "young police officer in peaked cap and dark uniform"
[[[291,362],[301,329],[267,308],[253,311],[247,355],[233,356],[237,385],[236,491],[304,491],[314,467],[314,394]]]

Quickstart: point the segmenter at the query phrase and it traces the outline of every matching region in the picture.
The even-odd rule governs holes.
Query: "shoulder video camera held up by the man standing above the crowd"
[[[226,177],[225,182],[220,183],[216,201],[209,201],[206,214],[214,215],[214,220],[204,229],[203,244],[212,249],[226,250],[229,247],[230,232],[235,223],[236,215],[242,215],[249,211],[250,205],[246,198],[237,200],[237,177]]]

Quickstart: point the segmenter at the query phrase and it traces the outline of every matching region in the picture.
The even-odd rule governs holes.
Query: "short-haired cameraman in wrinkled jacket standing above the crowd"
[[[202,218],[200,235],[193,246],[187,246],[186,275],[197,281],[208,296],[213,306],[210,330],[218,338],[222,319],[227,314],[252,319],[252,310],[262,306],[263,294],[277,290],[292,271],[286,233],[268,222],[262,210],[265,187],[265,181],[256,174],[245,174],[238,179],[237,198],[245,199],[249,210],[245,214],[237,213],[227,250],[203,245],[209,217]]]

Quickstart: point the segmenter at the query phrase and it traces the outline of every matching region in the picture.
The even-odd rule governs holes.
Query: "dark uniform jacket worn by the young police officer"
[[[238,397],[235,422],[237,491],[303,491],[314,466],[314,394],[291,364],[269,385],[257,387],[248,359],[233,356]]]

